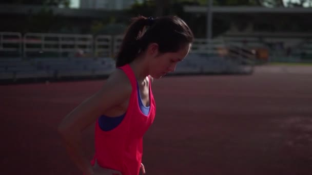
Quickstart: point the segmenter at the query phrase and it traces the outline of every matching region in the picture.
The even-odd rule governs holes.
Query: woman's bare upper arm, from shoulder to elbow
[[[105,113],[109,108],[120,105],[131,95],[130,81],[120,70],[115,71],[101,90],[74,108],[59,125],[61,132],[81,131]]]

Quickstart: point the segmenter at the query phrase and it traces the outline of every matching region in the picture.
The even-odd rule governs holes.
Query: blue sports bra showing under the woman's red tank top
[[[139,89],[139,82],[136,81],[136,84],[138,87],[137,88],[137,91],[138,91],[138,101],[139,101],[139,107],[140,107],[140,110],[141,112],[144,114],[144,115],[148,115],[149,113],[149,108],[150,108],[150,105],[149,106],[145,106],[142,102],[142,99],[141,99],[141,96],[140,96],[140,89]],[[149,91],[149,87],[148,87],[148,91]],[[104,131],[109,131],[109,130],[112,130],[113,128],[117,127],[124,119],[126,114],[122,114],[118,117],[108,117],[108,116],[105,116],[105,115],[101,115],[99,117],[99,126],[102,130]]]

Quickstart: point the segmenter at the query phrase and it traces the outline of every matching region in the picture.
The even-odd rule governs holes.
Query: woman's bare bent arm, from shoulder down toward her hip
[[[82,147],[81,133],[109,108],[130,97],[131,84],[121,73],[113,73],[103,88],[71,111],[59,125],[59,133],[71,160],[86,175],[93,174]]]

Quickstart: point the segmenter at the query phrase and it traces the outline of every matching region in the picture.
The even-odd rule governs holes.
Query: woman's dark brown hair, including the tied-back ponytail
[[[187,24],[177,16],[132,18],[120,51],[116,56],[116,67],[130,63],[139,53],[146,50],[149,43],[159,45],[159,52],[178,52],[183,46],[192,43],[193,33]]]

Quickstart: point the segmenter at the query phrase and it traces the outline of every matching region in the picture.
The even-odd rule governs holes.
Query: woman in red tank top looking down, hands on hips
[[[116,69],[100,91],[77,106],[59,126],[72,161],[86,175],[138,175],[142,138],[155,116],[153,78],[173,72],[188,54],[193,34],[177,16],[133,18]],[[81,132],[95,124],[95,155],[87,160]]]

